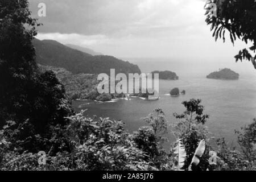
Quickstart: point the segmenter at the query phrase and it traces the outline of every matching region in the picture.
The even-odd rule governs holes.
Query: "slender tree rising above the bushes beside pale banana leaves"
[[[209,116],[203,113],[204,106],[201,105],[201,100],[191,99],[190,101],[182,102],[182,104],[186,110],[183,114],[174,113],[176,119],[181,119],[174,124],[174,134],[185,147],[186,158],[183,168],[188,170],[200,140],[207,139],[208,132],[204,124]],[[198,170],[206,170],[208,168],[209,157],[207,151],[208,147],[203,158],[200,159],[200,164],[197,167]]]

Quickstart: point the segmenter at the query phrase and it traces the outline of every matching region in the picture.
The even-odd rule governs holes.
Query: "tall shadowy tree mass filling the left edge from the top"
[[[35,134],[64,124],[72,113],[55,74],[40,72],[36,64],[32,39],[39,25],[27,0],[0,1],[0,126],[28,121]]]

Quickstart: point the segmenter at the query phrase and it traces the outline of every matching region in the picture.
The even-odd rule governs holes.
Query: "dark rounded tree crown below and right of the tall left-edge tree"
[[[36,133],[44,133],[49,125],[65,125],[65,117],[73,114],[71,103],[67,100],[64,86],[52,71],[36,73],[27,88],[28,105],[19,117],[30,119]]]

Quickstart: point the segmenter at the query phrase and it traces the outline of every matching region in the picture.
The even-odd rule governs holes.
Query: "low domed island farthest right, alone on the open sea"
[[[239,74],[232,71],[231,69],[224,68],[218,72],[210,73],[210,75],[208,75],[207,78],[218,80],[238,80]]]

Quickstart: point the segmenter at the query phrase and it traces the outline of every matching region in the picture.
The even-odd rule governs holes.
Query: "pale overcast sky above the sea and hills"
[[[47,6],[39,18],[38,4]],[[30,0],[44,26],[39,39],[76,44],[116,57],[233,57],[235,47],[214,42],[203,0]]]

